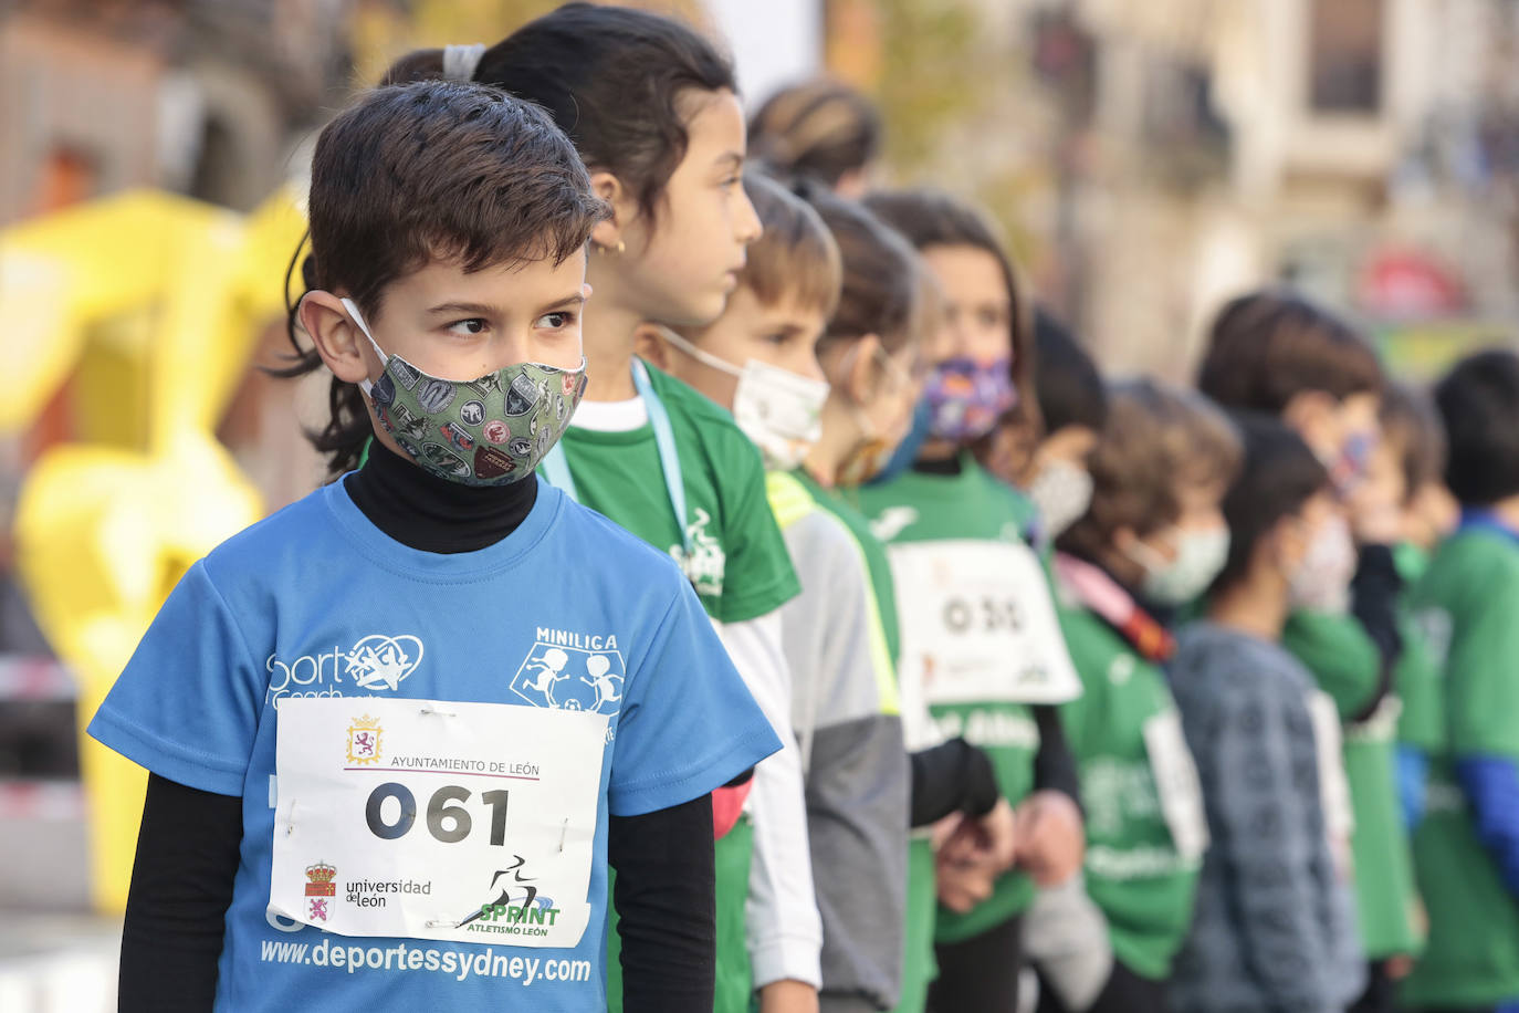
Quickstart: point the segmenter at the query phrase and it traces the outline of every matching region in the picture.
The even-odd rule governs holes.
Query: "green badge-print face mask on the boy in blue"
[[[516,363],[478,380],[441,380],[387,355],[358,307],[351,299],[343,307],[384,366],[380,380],[358,389],[424,471],[466,486],[504,486],[532,475],[570,428],[585,393],[585,358],[579,369]]]

